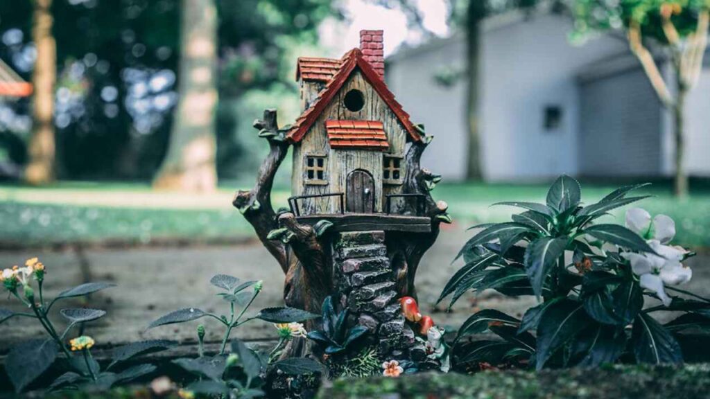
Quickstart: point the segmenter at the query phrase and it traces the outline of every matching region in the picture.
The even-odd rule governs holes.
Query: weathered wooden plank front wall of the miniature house
[[[311,89],[310,84],[302,86],[302,98],[311,98],[312,93],[306,89]],[[351,89],[359,89],[363,93],[364,106],[360,111],[352,112],[343,104],[345,94]],[[305,104],[305,103],[302,103]],[[348,173],[355,169],[364,169],[371,173],[375,180],[375,208],[376,212],[383,212],[385,207],[385,195],[400,194],[403,192],[403,185],[383,185],[382,182],[382,160],[381,151],[364,150],[339,150],[331,151],[328,144],[325,121],[327,120],[361,120],[361,121],[381,121],[387,141],[390,146],[390,153],[393,155],[404,155],[407,142],[407,132],[400,124],[397,117],[383,102],[379,94],[368,84],[359,70],[355,70],[343,87],[333,97],[332,102],[326,107],[318,117],[310,131],[306,133],[303,140],[294,146],[293,150],[293,195],[315,195],[328,192],[345,192],[346,178]],[[306,185],[305,184],[305,157],[312,155],[327,155],[328,165],[325,180],[328,185]],[[401,163],[401,175],[404,176],[406,165]],[[393,209],[397,209],[400,200],[393,201]],[[334,213],[339,212],[340,204],[338,197],[326,197],[315,200],[299,200],[301,214],[312,213]]]

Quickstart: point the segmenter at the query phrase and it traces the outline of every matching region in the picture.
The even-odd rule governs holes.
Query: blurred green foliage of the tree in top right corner
[[[671,14],[671,21],[681,37],[693,33],[698,13],[710,9],[710,0],[570,0],[575,23],[573,40],[581,40],[590,31],[628,28],[638,23],[641,33],[667,44],[662,28],[662,12]]]

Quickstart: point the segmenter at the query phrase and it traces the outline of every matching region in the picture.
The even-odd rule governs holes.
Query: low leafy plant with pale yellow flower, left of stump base
[[[265,379],[271,371],[275,371],[279,376],[297,377],[322,372],[321,364],[312,359],[278,360],[288,341],[296,337],[305,338],[306,332],[301,322],[315,319],[320,315],[293,307],[269,307],[260,310],[255,315],[246,316],[249,307],[261,293],[261,281],[241,282],[239,278],[231,275],[219,274],[212,277],[210,283],[222,290],[217,295],[229,304],[229,316],[216,315],[196,307],[188,307],[170,312],[148,326],[148,328],[153,328],[166,324],[184,323],[202,317],[212,317],[224,324],[224,336],[219,353],[212,356],[207,356],[204,353],[204,326],[200,324],[197,327],[199,356],[173,361],[173,364],[191,376],[185,378],[185,390],[203,395],[221,395],[225,398],[255,398],[264,395]],[[275,323],[279,334],[278,344],[269,354],[266,354],[249,348],[239,339],[232,339],[231,351],[227,354],[226,344],[230,341],[233,329],[254,319]]]

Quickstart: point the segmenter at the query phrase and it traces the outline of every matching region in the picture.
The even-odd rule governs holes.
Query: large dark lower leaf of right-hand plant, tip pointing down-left
[[[535,368],[542,369],[564,344],[591,324],[581,302],[561,300],[548,307],[537,325],[537,355]]]

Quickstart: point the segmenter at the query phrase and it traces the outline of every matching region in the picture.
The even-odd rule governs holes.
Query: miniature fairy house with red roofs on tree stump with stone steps
[[[280,263],[287,305],[320,312],[330,296],[378,353],[406,358],[415,337],[399,300],[415,297],[417,266],[451,219],[430,195],[440,177],[420,168],[432,136],[383,80],[383,32],[360,38],[339,60],[298,60],[302,114],[285,129],[275,110],[255,122],[271,151],[234,205]],[[290,212],[276,214],[273,177],[292,146]]]

